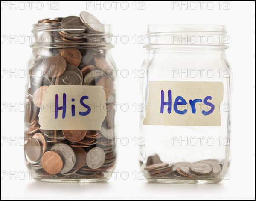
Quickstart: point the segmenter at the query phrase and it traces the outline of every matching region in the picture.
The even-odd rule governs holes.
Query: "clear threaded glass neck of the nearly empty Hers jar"
[[[148,25],[147,49],[226,49],[229,36],[223,25]]]

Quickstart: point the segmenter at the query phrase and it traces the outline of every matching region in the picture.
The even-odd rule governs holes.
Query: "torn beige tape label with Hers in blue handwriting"
[[[221,126],[222,82],[150,81],[144,125]]]

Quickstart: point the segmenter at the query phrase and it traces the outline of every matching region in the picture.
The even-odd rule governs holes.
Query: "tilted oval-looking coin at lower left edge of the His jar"
[[[36,138],[29,139],[25,144],[26,155],[31,161],[38,161],[41,158],[42,150],[42,145]]]

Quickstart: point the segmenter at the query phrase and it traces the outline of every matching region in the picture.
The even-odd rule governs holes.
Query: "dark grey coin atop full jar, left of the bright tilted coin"
[[[64,17],[61,20],[61,26],[64,27],[66,32],[71,33],[71,34],[82,34],[86,30],[86,26],[83,26],[83,22],[81,19],[77,16],[68,16]],[[78,29],[78,30],[76,30]],[[79,30],[80,29],[80,30]]]

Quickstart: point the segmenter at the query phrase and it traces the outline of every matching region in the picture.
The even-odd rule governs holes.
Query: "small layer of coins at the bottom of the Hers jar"
[[[218,179],[218,176],[221,173],[221,164],[215,159],[194,163],[180,162],[175,164],[163,163],[161,161],[160,163],[147,165],[144,170],[147,170],[150,178]]]

